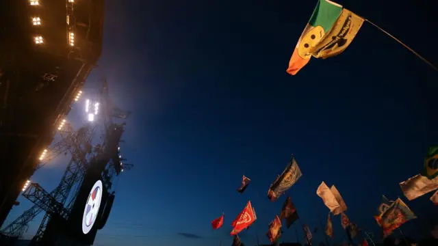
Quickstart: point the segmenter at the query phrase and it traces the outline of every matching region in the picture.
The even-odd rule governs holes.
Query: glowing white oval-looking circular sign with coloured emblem
[[[87,204],[83,210],[82,215],[82,232],[87,234],[90,232],[91,228],[96,221],[97,214],[99,213],[99,207],[101,206],[102,200],[102,181],[97,180],[88,195]]]

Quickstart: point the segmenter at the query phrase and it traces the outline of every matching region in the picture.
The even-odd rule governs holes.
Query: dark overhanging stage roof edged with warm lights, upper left
[[[101,56],[104,3],[0,1],[0,227]]]

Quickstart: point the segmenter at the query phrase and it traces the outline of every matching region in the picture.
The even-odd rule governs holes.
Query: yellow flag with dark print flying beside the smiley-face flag
[[[339,55],[351,44],[363,21],[363,18],[344,8],[329,33],[311,48],[310,53],[313,57],[322,59]]]

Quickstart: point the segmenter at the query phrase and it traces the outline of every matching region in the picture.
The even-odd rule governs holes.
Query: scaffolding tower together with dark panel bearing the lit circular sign
[[[53,149],[68,151],[72,156],[60,184],[48,192],[40,184],[27,180],[23,196],[34,206],[3,228],[2,234],[20,238],[27,230],[27,223],[39,213],[45,215],[31,245],[92,245],[97,230],[105,226],[115,198],[112,182],[133,165],[124,163],[126,159],[120,154],[125,122],[118,124],[113,120],[127,119],[129,112],[114,106],[108,96],[106,80],[101,82],[99,98],[93,99],[101,105],[101,113],[94,111],[94,120],[78,131],[64,123],[64,131],[60,133],[62,141],[52,145]],[[84,118],[88,118],[88,113],[86,110]],[[99,128],[105,130],[100,136],[103,142],[93,144],[93,137],[99,137]]]

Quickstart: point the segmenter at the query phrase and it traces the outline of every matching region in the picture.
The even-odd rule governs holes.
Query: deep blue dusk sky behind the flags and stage
[[[337,2],[438,64],[432,1]],[[438,214],[432,193],[409,202],[398,185],[421,172],[427,147],[438,143],[438,72],[364,23],[344,53],[313,58],[292,77],[285,70],[316,3],[106,2],[103,55],[85,94],[106,76],[116,104],[133,112],[121,150],[135,167],[120,175],[94,245],[231,245],[231,223],[248,200],[258,219],[242,241],[256,245],[257,233],[268,243],[268,223],[287,195],[300,221],[283,228],[281,241],[296,241],[296,228],[303,242],[300,225],[307,223],[320,228],[318,245],[318,215],[325,226],[329,213],[315,193],[322,180],[336,185],[346,215],[377,240],[381,195],[401,197],[419,217],[402,226],[406,235]],[[85,120],[81,103],[68,116],[77,127]],[[272,203],[266,193],[291,154],[303,175]],[[64,167],[53,163],[32,180],[50,190]],[[252,182],[240,194],[242,174]],[[18,200],[8,221],[30,206]],[[212,232],[222,212],[224,226]],[[346,241],[339,216],[333,226],[330,242]]]

